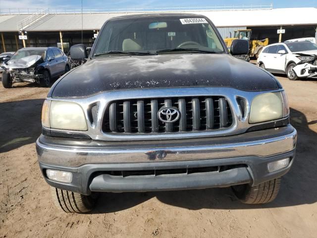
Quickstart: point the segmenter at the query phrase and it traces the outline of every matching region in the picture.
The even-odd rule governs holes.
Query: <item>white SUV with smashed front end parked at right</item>
[[[264,47],[258,65],[290,80],[317,78],[317,45],[309,41],[277,43]]]

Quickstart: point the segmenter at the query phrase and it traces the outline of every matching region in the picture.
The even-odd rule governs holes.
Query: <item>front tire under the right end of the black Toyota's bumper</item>
[[[242,184],[232,186],[234,194],[243,203],[261,204],[273,201],[279,191],[281,178],[272,179],[257,186]]]

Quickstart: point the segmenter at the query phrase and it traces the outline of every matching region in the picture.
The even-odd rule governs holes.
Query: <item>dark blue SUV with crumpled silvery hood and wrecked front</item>
[[[51,85],[52,78],[70,70],[67,57],[56,47],[22,48],[2,63],[2,85],[11,88],[15,82]]]

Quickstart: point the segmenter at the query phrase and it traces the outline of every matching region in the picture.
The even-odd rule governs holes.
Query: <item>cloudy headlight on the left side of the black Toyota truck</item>
[[[88,129],[83,109],[72,102],[46,100],[42,110],[42,124],[54,129]]]

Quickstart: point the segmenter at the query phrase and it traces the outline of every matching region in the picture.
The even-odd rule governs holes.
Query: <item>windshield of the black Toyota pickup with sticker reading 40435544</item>
[[[225,53],[205,18],[185,16],[110,20],[99,33],[96,44],[93,53],[96,57],[107,52],[157,53],[185,48]]]

